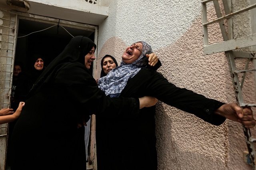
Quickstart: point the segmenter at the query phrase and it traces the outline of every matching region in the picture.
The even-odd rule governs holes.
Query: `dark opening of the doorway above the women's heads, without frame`
[[[63,51],[73,36],[86,36],[94,41],[94,34],[92,30],[19,19],[15,61],[23,63],[25,71],[30,71],[32,56],[41,54],[47,66]]]

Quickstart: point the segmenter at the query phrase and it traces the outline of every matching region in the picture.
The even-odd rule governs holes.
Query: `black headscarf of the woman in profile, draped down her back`
[[[70,40],[68,45],[64,48],[62,53],[60,53],[44,70],[44,72],[38,77],[34,83],[32,89],[30,90],[28,96],[35,93],[35,91],[47,81],[50,81],[53,73],[65,67],[71,62],[79,62],[84,65],[84,56],[89,53],[89,51],[94,47],[96,49],[96,44],[87,37],[76,36]],[[85,66],[84,66],[85,67]],[[85,67],[86,68],[86,67]]]

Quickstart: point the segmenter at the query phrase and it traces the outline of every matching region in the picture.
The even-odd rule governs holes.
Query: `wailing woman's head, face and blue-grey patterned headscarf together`
[[[110,97],[119,97],[127,81],[134,77],[141,68],[147,66],[146,54],[150,53],[153,53],[152,48],[146,42],[141,41],[130,45],[122,55],[120,66],[112,69],[105,77],[100,78],[98,87]]]

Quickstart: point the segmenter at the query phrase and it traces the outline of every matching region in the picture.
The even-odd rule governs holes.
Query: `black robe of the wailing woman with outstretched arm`
[[[224,103],[176,87],[160,73],[149,69],[141,69],[132,77],[120,96],[145,95],[213,125],[225,121],[224,117],[213,113]],[[140,109],[140,114],[126,119],[96,115],[98,170],[157,170],[154,116],[155,107]]]

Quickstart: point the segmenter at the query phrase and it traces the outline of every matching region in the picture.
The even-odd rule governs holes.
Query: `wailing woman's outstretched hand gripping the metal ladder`
[[[216,114],[226,117],[231,121],[242,123],[246,128],[253,128],[256,121],[253,118],[252,109],[250,107],[244,107],[242,109],[236,103],[225,104],[219,107]]]

